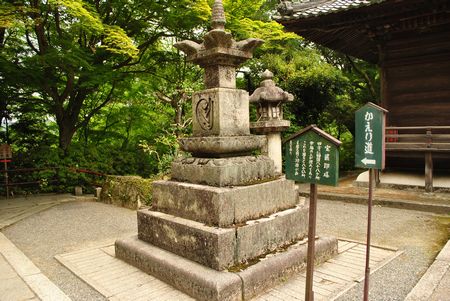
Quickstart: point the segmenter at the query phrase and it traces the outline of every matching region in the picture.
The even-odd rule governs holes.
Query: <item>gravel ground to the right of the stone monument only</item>
[[[366,240],[367,206],[319,200],[317,232]],[[450,216],[375,206],[372,244],[404,250],[370,278],[370,300],[404,300],[450,237]],[[360,283],[339,301],[362,300]]]

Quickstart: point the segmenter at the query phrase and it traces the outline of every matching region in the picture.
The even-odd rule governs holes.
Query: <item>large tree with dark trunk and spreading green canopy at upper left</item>
[[[161,39],[193,35],[210,14],[206,0],[9,1],[2,10],[0,89],[43,103],[65,154],[119,85],[151,71],[142,62]]]

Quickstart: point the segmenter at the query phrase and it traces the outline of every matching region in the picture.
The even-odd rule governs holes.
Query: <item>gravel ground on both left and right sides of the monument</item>
[[[365,241],[367,206],[320,200],[320,235]],[[449,238],[450,217],[374,207],[372,243],[405,252],[371,277],[371,301],[403,300]],[[54,256],[136,232],[136,212],[93,202],[65,203],[3,233],[73,300],[105,300],[61,266]],[[362,300],[363,284],[339,301]]]

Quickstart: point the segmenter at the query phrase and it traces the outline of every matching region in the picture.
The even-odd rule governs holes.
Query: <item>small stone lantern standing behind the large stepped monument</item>
[[[283,119],[282,106],[293,100],[294,95],[275,85],[273,73],[269,70],[262,74],[261,86],[250,96],[250,103],[257,106],[257,121],[251,123],[251,130],[267,136],[265,151],[274,161],[277,173],[282,171],[281,132],[290,126],[290,121]]]

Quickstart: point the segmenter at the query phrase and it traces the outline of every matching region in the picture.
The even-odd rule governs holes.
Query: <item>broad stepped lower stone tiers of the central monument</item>
[[[189,183],[154,182],[153,207],[138,212],[137,236],[116,241],[118,258],[208,301],[248,300],[306,266],[308,205],[294,182],[274,178],[271,160],[188,159],[203,165],[187,164],[192,169],[183,173],[182,163],[174,164],[174,173],[184,174]],[[205,176],[199,170],[211,161],[218,169]],[[228,177],[229,170],[222,168],[234,170],[236,162],[243,164],[238,174],[252,175],[265,165],[266,180],[249,184],[234,174]],[[211,185],[220,179],[237,185]],[[337,239],[317,239],[316,250],[317,262],[331,258]]]

